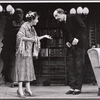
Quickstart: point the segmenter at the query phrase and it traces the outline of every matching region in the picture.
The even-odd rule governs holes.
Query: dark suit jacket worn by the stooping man
[[[87,42],[86,25],[78,14],[68,14],[66,22],[61,22],[60,27],[65,36],[65,42],[72,43],[74,38],[79,39],[78,46],[83,47]]]

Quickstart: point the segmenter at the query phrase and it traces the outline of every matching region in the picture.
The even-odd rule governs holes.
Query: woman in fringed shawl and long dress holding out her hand
[[[37,36],[34,25],[38,23],[37,12],[29,11],[26,14],[27,21],[22,24],[16,39],[16,61],[14,81],[18,81],[17,94],[25,97],[25,94],[32,96],[30,81],[36,80],[32,56],[38,57],[40,40],[43,38],[52,39],[49,35]],[[34,50],[32,45],[34,44]],[[33,51],[33,52],[32,52]],[[23,92],[22,84],[26,83]]]

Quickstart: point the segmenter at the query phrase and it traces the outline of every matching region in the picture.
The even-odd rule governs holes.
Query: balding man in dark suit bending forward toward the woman
[[[66,94],[80,94],[83,81],[83,64],[87,49],[86,26],[78,14],[65,14],[58,8],[53,16],[60,22],[67,46],[67,67],[70,90]]]

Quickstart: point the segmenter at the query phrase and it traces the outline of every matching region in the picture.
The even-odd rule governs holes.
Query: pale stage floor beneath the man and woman
[[[0,85],[0,99],[19,99],[17,96],[18,87],[10,87],[11,84],[1,84]],[[25,88],[25,87],[24,87]],[[82,88],[82,93],[78,95],[66,95],[69,90],[69,86],[32,86],[31,90],[34,97],[26,97],[26,99],[96,99],[100,96],[97,95],[98,87],[93,84],[84,84]]]

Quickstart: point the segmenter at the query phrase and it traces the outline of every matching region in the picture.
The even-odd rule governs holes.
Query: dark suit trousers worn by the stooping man
[[[80,49],[77,45],[68,49],[66,66],[69,85],[72,89],[81,90],[82,88],[85,53],[86,49]]]

